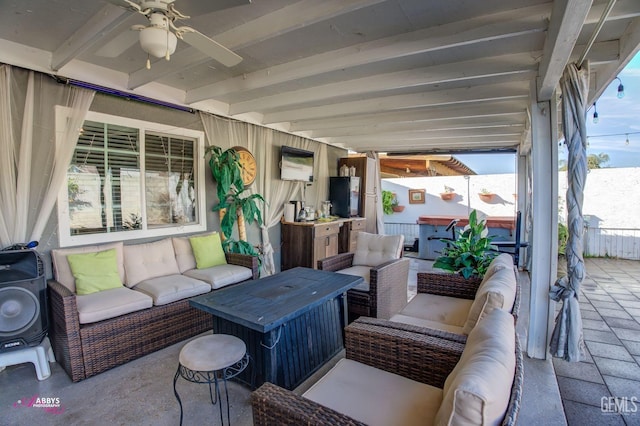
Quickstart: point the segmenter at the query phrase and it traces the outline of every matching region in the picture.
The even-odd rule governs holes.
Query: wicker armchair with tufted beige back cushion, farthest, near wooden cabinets
[[[318,269],[364,278],[347,292],[349,322],[360,316],[389,319],[407,304],[409,259],[402,258],[403,235],[359,232],[356,251],[318,261]]]

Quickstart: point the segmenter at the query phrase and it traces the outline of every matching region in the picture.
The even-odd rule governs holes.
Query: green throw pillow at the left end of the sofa
[[[76,280],[76,294],[84,295],[122,287],[116,249],[67,255]]]

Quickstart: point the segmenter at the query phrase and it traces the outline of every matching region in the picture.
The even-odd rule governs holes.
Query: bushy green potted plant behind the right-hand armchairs
[[[493,237],[487,235],[488,230],[484,220],[478,221],[477,212],[469,214],[469,225],[458,231],[454,241],[442,239],[447,244],[434,264],[434,268],[456,272],[464,278],[482,278],[493,258],[497,255],[497,248],[491,244]]]

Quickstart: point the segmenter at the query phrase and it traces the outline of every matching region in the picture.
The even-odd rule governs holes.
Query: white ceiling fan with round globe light
[[[181,39],[224,66],[232,67],[242,61],[241,56],[201,32],[187,26],[176,26],[175,21],[190,17],[175,8],[175,0],[108,1],[147,17],[148,25],[134,25],[131,29],[140,32],[140,46],[149,56],[164,57],[168,61],[176,50],[178,39]],[[149,56],[147,69],[151,68]]]

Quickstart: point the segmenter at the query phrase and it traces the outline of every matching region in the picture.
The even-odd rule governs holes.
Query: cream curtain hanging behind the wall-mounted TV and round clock
[[[272,275],[276,272],[273,260],[273,246],[269,238],[269,229],[280,223],[284,213],[284,205],[290,200],[306,199],[308,205],[319,207],[320,202],[328,195],[329,165],[327,162],[327,146],[325,144],[302,138],[300,136],[279,132],[249,123],[200,113],[200,117],[209,144],[224,149],[233,146],[247,148],[256,158],[258,175],[255,182],[247,190],[262,195],[265,203],[262,207],[261,240],[262,269],[261,275]],[[280,157],[279,147],[282,145],[306,149],[315,153],[313,175],[316,186],[313,199],[305,196],[305,183],[279,179]]]

